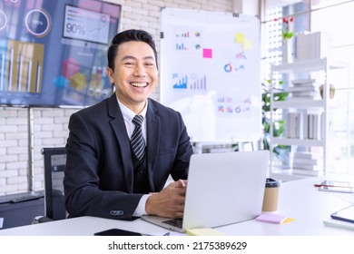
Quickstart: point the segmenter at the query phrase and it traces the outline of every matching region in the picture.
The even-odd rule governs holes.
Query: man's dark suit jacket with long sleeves
[[[147,172],[151,191],[162,190],[171,173],[187,179],[192,145],[179,112],[149,99],[146,112]],[[129,137],[115,94],[75,112],[69,122],[64,171],[70,217],[132,219],[142,193],[133,193]]]

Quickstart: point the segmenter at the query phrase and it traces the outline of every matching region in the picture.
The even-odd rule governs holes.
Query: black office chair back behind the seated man
[[[44,155],[44,214],[34,218],[34,224],[51,220],[64,220],[67,213],[64,205],[64,147],[42,148]]]

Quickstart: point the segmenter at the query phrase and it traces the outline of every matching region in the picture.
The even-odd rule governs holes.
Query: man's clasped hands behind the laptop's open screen
[[[150,215],[182,218],[187,181],[174,181],[158,193],[152,193],[145,205]]]

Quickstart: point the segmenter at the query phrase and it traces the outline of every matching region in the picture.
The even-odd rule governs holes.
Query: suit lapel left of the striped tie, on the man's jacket
[[[113,118],[110,124],[121,149],[123,171],[125,182],[127,183],[127,190],[129,193],[133,193],[133,161],[131,144],[126,132],[123,114],[114,93],[108,100],[108,115]]]

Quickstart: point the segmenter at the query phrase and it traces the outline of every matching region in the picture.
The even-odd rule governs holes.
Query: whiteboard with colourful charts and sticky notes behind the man
[[[161,102],[192,142],[260,139],[259,19],[163,8],[161,31]]]

